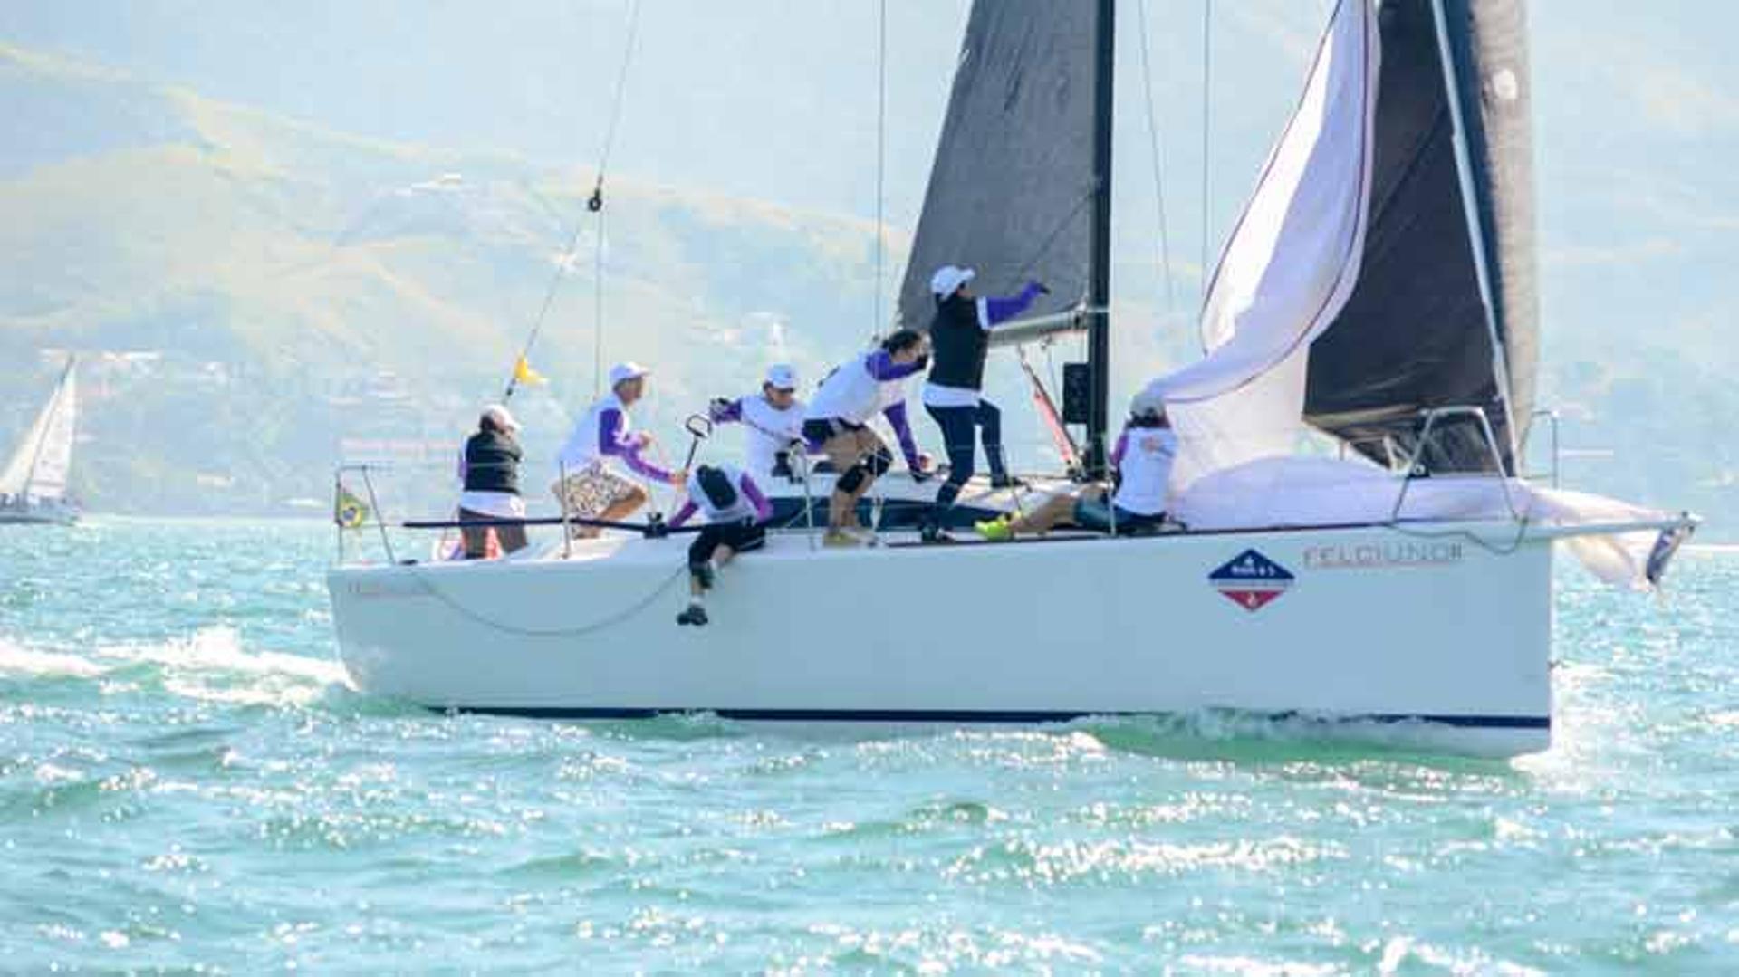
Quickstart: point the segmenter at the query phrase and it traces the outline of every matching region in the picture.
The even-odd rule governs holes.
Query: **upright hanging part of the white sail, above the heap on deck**
[[[1370,0],[1341,0],[1221,254],[1202,309],[1209,356],[1155,381],[1181,442],[1174,492],[1210,471],[1289,454],[1304,429],[1309,344],[1358,280],[1377,68]]]

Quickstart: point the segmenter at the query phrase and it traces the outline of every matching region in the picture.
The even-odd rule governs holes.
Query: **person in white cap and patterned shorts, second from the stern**
[[[633,362],[610,367],[610,393],[586,410],[562,445],[553,490],[567,515],[605,522],[628,518],[647,502],[635,475],[678,487],[687,482],[687,471],[664,471],[642,457],[652,435],[633,429],[628,409],[645,395],[647,372]],[[574,534],[590,537],[598,530],[576,527]]]

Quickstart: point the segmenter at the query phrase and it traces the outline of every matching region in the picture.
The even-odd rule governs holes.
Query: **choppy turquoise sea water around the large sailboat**
[[[1558,746],[346,687],[313,523],[0,527],[0,972],[1739,972],[1739,553],[1562,572]]]

